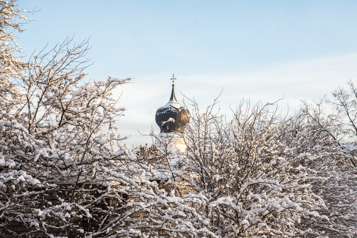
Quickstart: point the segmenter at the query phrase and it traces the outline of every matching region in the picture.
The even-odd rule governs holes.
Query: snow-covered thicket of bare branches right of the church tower
[[[190,104],[191,123],[178,134],[187,145],[183,167],[161,172],[177,193],[203,196],[200,206],[187,203],[204,218],[197,228],[220,237],[356,237],[357,169],[349,146],[333,136],[343,133],[335,131],[340,106],[322,123],[322,104],[291,117],[271,104],[241,104],[229,121],[215,103],[204,112]]]

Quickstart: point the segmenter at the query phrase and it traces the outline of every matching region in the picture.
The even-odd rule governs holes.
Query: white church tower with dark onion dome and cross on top
[[[160,127],[159,136],[166,141],[159,143],[162,149],[176,155],[185,152],[186,144],[183,136],[183,128],[190,122],[190,112],[182,107],[176,99],[174,74],[172,74],[172,92],[168,103],[157,109],[155,114],[156,124]]]

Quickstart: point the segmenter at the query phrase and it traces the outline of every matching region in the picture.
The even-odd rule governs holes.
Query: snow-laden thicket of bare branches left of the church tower
[[[200,214],[116,133],[125,108],[112,92],[131,79],[85,81],[88,42],[70,38],[22,61],[6,32],[25,11],[0,6],[1,237],[195,235],[186,217]]]

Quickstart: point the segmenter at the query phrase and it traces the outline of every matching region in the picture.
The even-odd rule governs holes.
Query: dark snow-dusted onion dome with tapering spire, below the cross
[[[172,84],[169,102],[157,109],[155,121],[161,129],[160,133],[183,132],[186,123],[190,122],[190,112],[177,102],[175,84]]]

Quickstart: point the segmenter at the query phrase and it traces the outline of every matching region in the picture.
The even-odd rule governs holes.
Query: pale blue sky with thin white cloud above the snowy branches
[[[90,38],[87,80],[131,77],[119,87],[130,144],[150,143],[157,108],[176,96],[205,109],[223,90],[220,112],[242,98],[297,110],[357,80],[357,1],[45,1],[19,0],[31,21],[17,34],[31,55],[67,36]],[[189,107],[190,109],[190,107]],[[218,108],[217,108],[218,109]]]

